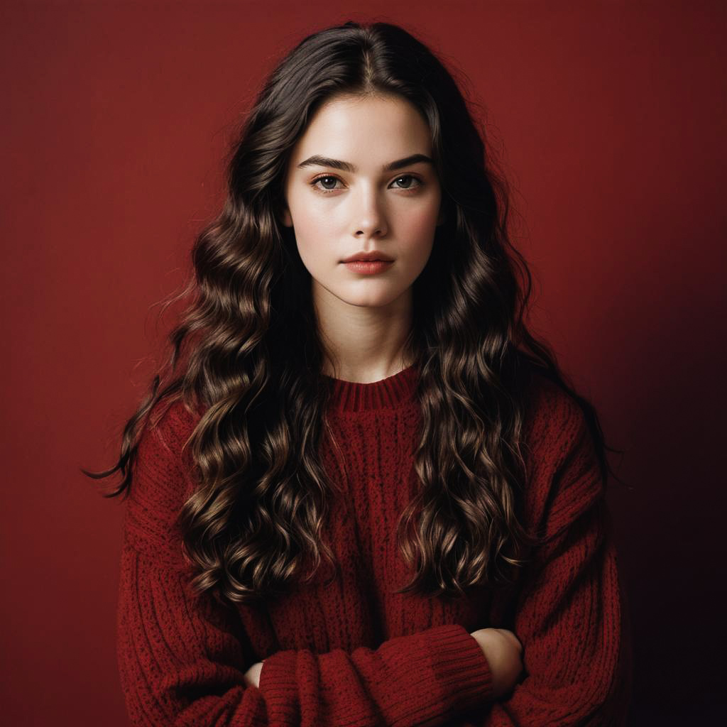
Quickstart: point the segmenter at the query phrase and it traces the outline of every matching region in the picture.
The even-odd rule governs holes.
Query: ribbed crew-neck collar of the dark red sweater
[[[373,409],[396,409],[411,401],[419,379],[416,364],[402,369],[398,374],[379,379],[369,384],[355,381],[331,379],[333,389],[329,406],[337,411],[371,411]]]

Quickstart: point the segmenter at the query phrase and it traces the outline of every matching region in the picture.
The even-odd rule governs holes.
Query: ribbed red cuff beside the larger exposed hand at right
[[[451,709],[469,710],[492,699],[490,665],[473,635],[460,624],[427,630],[432,643],[432,666]]]

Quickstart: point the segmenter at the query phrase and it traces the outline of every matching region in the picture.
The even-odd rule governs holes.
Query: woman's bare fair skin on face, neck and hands
[[[328,350],[324,373],[369,383],[410,363],[403,342],[411,329],[411,284],[443,221],[431,158],[425,119],[391,96],[329,99],[292,150],[281,222],[294,229],[310,272]],[[401,164],[387,168],[393,162]],[[393,258],[380,273],[361,275],[341,262],[373,250]],[[507,694],[523,669],[522,644],[506,629],[471,635],[489,663],[494,696]],[[246,684],[259,686],[261,672],[262,662],[252,664]]]

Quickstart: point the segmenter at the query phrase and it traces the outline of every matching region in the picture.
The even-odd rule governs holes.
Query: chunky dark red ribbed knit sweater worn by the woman
[[[582,410],[535,374],[524,433],[523,524],[545,542],[517,587],[466,598],[392,593],[407,578],[395,527],[417,487],[415,366],[372,383],[333,379],[321,462],[343,486],[324,526],[340,573],[284,597],[222,606],[192,592],[174,524],[193,491],[174,403],[142,435],[126,499],[119,675],[132,725],[546,727],[624,724],[627,609],[611,517]],[[321,571],[324,571],[321,568]],[[471,632],[507,628],[523,673],[494,699]],[[244,673],[261,662],[259,686]]]

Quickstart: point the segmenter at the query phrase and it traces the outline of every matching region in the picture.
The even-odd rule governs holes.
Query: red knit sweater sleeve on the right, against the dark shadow
[[[582,410],[554,417],[554,457],[541,545],[529,564],[513,631],[520,683],[462,727],[614,727],[625,724],[631,647],[627,602],[595,447]],[[553,441],[553,440],[551,440]]]

